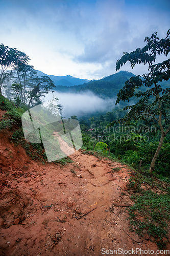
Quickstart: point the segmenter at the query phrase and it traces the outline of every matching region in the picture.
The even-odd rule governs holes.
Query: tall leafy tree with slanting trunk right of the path
[[[125,87],[117,94],[116,104],[119,101],[130,100],[136,97],[138,102],[134,105],[126,106],[129,110],[124,121],[144,120],[155,121],[159,124],[161,138],[150,165],[150,173],[155,169],[155,163],[162,147],[163,140],[170,130],[170,88],[163,89],[160,82],[170,78],[170,59],[161,63],[154,64],[157,54],[167,57],[170,51],[170,29],[165,38],[159,39],[157,33],[151,37],[145,37],[147,44],[142,48],[137,48],[134,52],[124,53],[121,59],[116,62],[116,71],[127,61],[130,62],[132,69],[136,64],[143,63],[148,65],[148,73],[142,76],[132,76],[125,82]],[[145,87],[145,90],[136,90]]]

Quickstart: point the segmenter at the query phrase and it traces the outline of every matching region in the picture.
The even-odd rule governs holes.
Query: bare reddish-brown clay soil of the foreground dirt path
[[[1,131],[1,256],[107,255],[106,249],[136,248],[156,252],[155,243],[129,231],[128,207],[114,206],[133,205],[127,191],[129,167],[81,150],[64,166],[35,162],[10,143],[10,136]]]

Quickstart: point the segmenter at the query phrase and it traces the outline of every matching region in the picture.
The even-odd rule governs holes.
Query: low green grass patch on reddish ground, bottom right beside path
[[[170,193],[168,189],[166,193],[162,191],[160,195],[151,189],[141,189],[131,199],[135,202],[129,209],[131,231],[135,231],[139,236],[148,234],[160,249],[165,248],[168,243],[167,227],[170,220]]]

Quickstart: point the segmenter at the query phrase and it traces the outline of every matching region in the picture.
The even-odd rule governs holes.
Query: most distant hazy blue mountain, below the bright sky
[[[36,70],[37,75],[41,76],[49,76],[55,83],[55,86],[77,86],[78,84],[83,84],[89,82],[87,79],[80,79],[74,76],[54,76],[54,75],[46,75],[43,72]]]

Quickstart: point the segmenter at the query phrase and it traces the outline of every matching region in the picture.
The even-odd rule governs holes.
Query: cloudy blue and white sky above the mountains
[[[116,73],[123,52],[170,28],[169,0],[0,0],[0,14],[0,44],[25,52],[45,74],[89,80]]]

